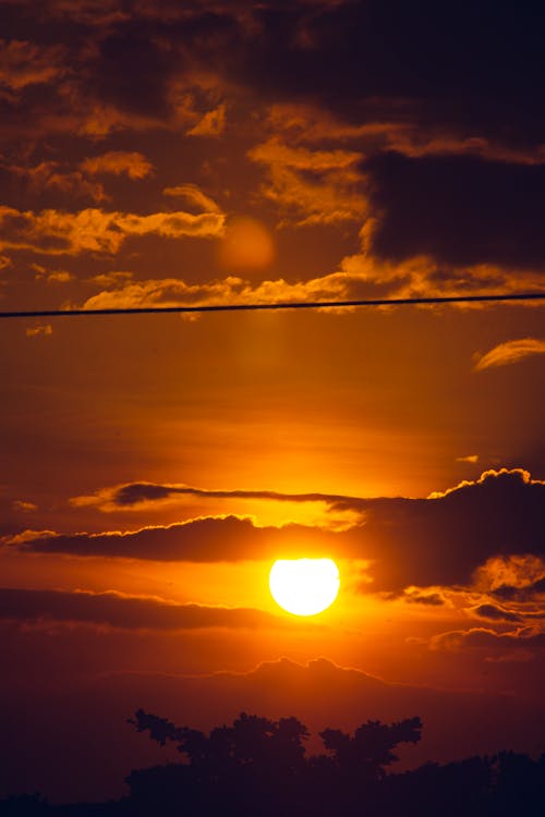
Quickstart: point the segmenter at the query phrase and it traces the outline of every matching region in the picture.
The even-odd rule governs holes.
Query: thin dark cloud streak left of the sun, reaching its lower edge
[[[118,593],[0,588],[0,619],[78,622],[121,630],[281,626],[279,617],[245,608],[168,603]]]

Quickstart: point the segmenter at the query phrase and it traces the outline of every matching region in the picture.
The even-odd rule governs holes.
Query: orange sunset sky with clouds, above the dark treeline
[[[0,20],[0,310],[545,292],[538,3]],[[0,797],[119,796],[137,706],[545,751],[544,308],[0,320]]]

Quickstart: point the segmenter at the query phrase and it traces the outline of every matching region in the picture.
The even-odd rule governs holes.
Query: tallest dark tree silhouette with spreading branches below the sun
[[[241,712],[231,725],[216,727],[209,734],[177,727],[143,709],[130,722],[161,745],[174,743],[184,756],[178,771],[170,765],[133,772],[132,794],[147,804],[155,797],[156,806],[159,796],[164,807],[183,805],[190,815],[213,814],[219,806],[222,814],[275,817],[351,808],[361,788],[377,784],[398,759],[392,749],[416,743],[422,730],[420,718],[391,724],[368,721],[353,736],[326,729],[320,737],[327,754],[307,758],[308,730],[294,717],[275,721]]]

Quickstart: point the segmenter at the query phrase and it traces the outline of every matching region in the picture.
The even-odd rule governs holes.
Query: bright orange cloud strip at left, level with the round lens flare
[[[0,248],[31,249],[47,255],[112,255],[129,236],[220,237],[222,232],[223,216],[217,212],[194,216],[174,211],[137,216],[100,209],[33,212],[0,206]]]

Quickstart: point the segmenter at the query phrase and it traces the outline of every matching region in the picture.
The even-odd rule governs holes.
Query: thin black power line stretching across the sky
[[[354,306],[415,306],[419,304],[479,304],[505,301],[545,301],[545,292],[498,295],[446,295],[444,297],[392,297],[358,301],[287,301],[271,304],[214,304],[208,306],[131,306],[99,309],[31,309],[0,312],[0,318],[68,318],[84,315],[161,315],[207,312],[264,312],[266,309],[335,309]]]

